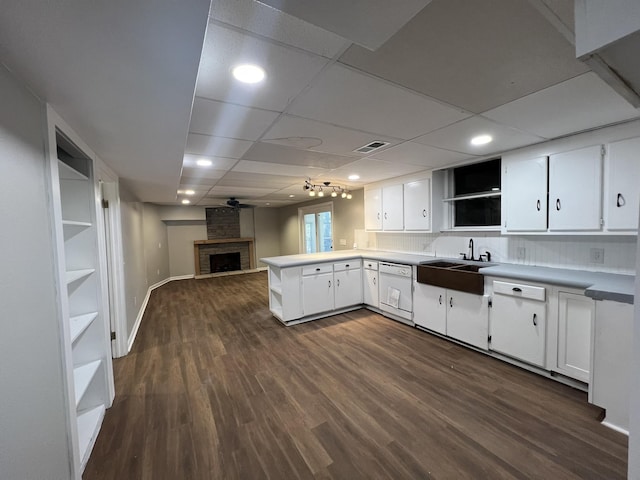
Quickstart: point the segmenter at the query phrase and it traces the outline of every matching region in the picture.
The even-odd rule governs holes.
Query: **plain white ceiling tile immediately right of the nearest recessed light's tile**
[[[405,140],[469,116],[339,64],[323,72],[289,113]]]

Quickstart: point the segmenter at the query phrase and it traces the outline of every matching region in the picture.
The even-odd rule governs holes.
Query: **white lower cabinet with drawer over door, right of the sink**
[[[494,281],[490,312],[491,350],[545,366],[545,288]]]

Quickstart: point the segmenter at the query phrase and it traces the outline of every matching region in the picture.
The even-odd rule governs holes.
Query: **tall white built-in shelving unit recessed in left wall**
[[[91,154],[50,113],[49,159],[61,340],[74,478],[81,478],[114,397],[110,325],[101,278],[98,185]]]

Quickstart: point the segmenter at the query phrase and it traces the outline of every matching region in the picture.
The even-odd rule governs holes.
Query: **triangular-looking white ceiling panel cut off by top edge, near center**
[[[371,50],[379,48],[431,0],[260,0]]]

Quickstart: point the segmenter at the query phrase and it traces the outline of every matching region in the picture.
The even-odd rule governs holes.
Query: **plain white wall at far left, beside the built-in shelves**
[[[0,477],[71,475],[44,107],[0,65]]]

